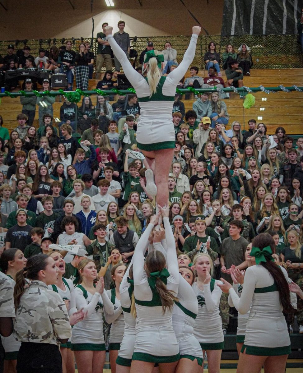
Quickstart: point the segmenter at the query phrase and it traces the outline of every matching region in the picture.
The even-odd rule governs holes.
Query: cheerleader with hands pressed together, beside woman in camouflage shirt
[[[104,291],[103,278],[94,286],[97,268],[93,260],[81,260],[78,271],[81,282],[75,288],[76,307],[84,309],[87,316],[73,327],[72,350],[79,373],[102,372],[105,362],[103,309],[112,315],[114,306]]]

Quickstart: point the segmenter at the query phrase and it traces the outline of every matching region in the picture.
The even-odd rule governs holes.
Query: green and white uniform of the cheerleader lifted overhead
[[[194,59],[198,35],[191,36],[190,44],[179,66],[162,76],[156,94],[150,97],[149,84],[128,61],[124,51],[112,35],[107,40],[113,53],[122,65],[126,78],[135,88],[140,103],[140,118],[137,125],[137,145],[141,150],[151,151],[175,147],[175,131],[172,123],[172,107],[177,84],[187,72]]]

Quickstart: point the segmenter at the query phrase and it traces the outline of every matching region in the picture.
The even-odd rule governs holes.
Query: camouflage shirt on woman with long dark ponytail
[[[14,335],[20,342],[59,345],[71,338],[68,311],[59,294],[38,280],[30,283],[16,310]]]

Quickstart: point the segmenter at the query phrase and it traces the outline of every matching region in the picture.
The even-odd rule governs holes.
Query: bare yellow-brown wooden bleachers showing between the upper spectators
[[[206,70],[200,70],[198,73],[201,77],[207,76]],[[185,77],[190,76],[189,71]],[[222,77],[226,80],[225,71],[222,71]],[[96,88],[99,79],[90,79],[89,90]],[[22,83],[22,82],[20,82]],[[247,87],[277,87],[280,84],[285,87],[293,85],[303,86],[303,69],[252,69],[251,76],[244,76],[244,85]],[[75,83],[74,83],[75,86]],[[18,91],[18,88],[15,91]],[[75,89],[75,87],[74,87]],[[38,88],[40,90],[40,88]],[[303,134],[303,93],[271,93],[262,92],[254,93],[256,103],[251,109],[244,109],[243,99],[238,94],[231,93],[230,99],[225,100],[229,114],[229,125],[237,120],[241,123],[242,129],[248,129],[249,119],[256,119],[257,122],[264,122],[268,126],[268,134],[275,132],[278,126],[283,126],[287,134]],[[93,104],[96,103],[97,97],[91,96]],[[63,98],[61,98],[61,101]],[[22,106],[19,98],[3,97],[0,104],[0,115],[3,116],[4,126],[11,131],[16,128],[16,116],[21,112]],[[60,106],[62,102],[60,97],[56,97],[53,104],[54,117],[59,117]],[[185,110],[192,109],[195,99],[192,95],[191,100],[183,100]],[[80,106],[80,103],[78,104]],[[36,111],[34,125],[38,126],[38,106]]]

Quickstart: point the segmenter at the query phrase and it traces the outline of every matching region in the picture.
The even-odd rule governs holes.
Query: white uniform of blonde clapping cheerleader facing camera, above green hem
[[[219,311],[222,290],[215,285],[210,291],[210,283],[204,284],[204,290],[200,290],[197,283],[193,283],[193,290],[199,304],[198,316],[194,324],[194,336],[200,343],[220,343],[224,341],[222,331],[222,319]]]

